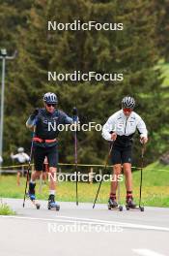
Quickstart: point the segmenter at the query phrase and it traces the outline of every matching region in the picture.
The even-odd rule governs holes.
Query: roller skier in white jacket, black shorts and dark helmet
[[[106,141],[113,142],[111,160],[113,164],[113,175],[118,177],[122,172],[126,176],[127,206],[135,208],[132,197],[132,175],[131,175],[131,152],[132,137],[136,130],[140,134],[140,143],[148,142],[148,131],[143,119],[133,112],[135,100],[132,97],[125,97],[122,100],[122,110],[112,114],[102,128],[102,137]],[[109,205],[112,208],[118,206],[116,202],[116,190],[118,178],[111,181]]]

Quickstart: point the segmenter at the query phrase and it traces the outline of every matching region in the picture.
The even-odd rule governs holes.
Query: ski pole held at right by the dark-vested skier
[[[74,122],[77,121],[77,109],[74,107],[72,109],[72,119]],[[75,198],[76,206],[78,206],[78,182],[77,182],[77,130],[75,127],[74,131],[74,167],[75,167]]]

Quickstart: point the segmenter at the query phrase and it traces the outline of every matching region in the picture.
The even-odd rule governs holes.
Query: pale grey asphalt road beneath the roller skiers
[[[169,208],[144,212],[108,210],[106,205],[61,202],[60,211],[46,202],[3,199],[16,211],[0,216],[0,255],[169,255]]]

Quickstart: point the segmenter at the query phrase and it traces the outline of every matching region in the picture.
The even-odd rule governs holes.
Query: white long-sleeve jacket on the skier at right
[[[116,132],[119,136],[130,136],[138,130],[140,137],[148,137],[148,131],[143,119],[136,113],[131,112],[127,117],[123,110],[112,114],[102,127],[102,137],[111,141],[110,132]]]

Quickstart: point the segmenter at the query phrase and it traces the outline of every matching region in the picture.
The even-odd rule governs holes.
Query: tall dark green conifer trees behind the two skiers
[[[30,148],[31,133],[25,121],[36,108],[42,107],[42,94],[58,94],[60,109],[70,114],[78,108],[81,123],[103,124],[119,110],[121,99],[136,98],[138,112],[148,124],[150,144],[147,161],[152,162],[167,147],[167,100],[161,92],[160,70],[156,63],[160,50],[156,45],[157,15],[153,1],[36,0],[0,1],[1,46],[17,48],[19,55],[7,73],[5,157],[14,146]],[[8,16],[6,16],[8,10]],[[156,10],[157,12],[157,10]],[[124,22],[123,31],[47,31],[47,21]],[[15,20],[11,26],[9,22]],[[6,30],[7,29],[7,30]],[[8,35],[9,34],[9,35]],[[9,38],[9,40],[8,40]],[[49,82],[47,71],[69,73],[96,71],[124,73],[123,82]],[[8,70],[9,71],[9,70]],[[159,104],[160,103],[160,104]],[[102,163],[107,144],[99,132],[78,133],[78,161]],[[60,160],[73,161],[71,133],[60,135]],[[140,145],[135,145],[138,163]]]

